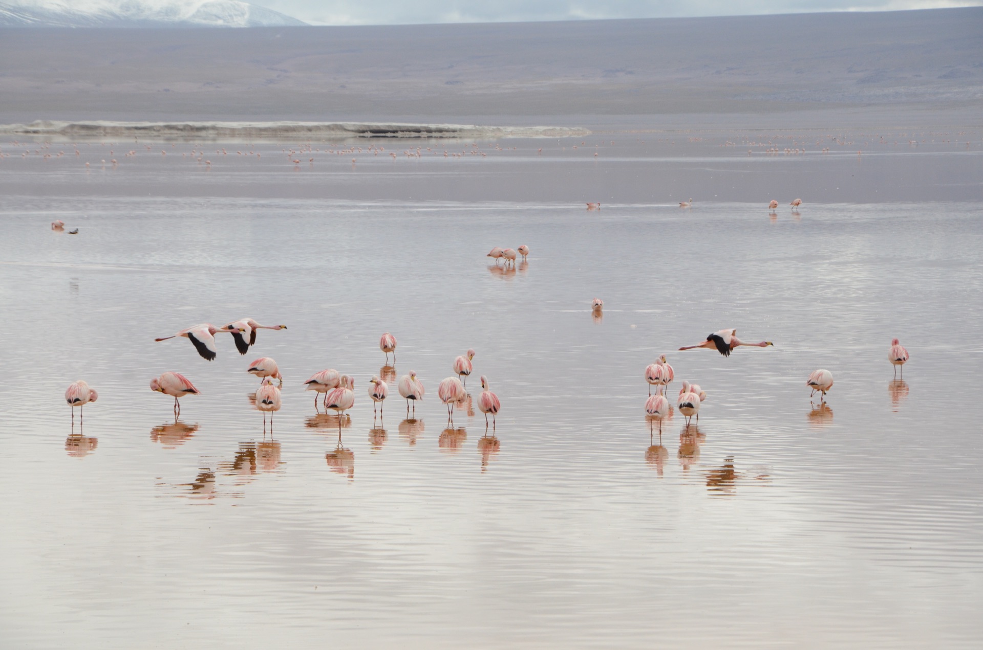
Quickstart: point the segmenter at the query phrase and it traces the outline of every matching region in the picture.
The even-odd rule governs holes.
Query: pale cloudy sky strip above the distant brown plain
[[[312,25],[564,21],[972,7],[983,0],[252,0]]]

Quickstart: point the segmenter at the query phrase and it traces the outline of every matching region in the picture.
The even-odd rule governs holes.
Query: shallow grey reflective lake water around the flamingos
[[[47,149],[64,162],[5,143],[3,645],[974,646],[978,144],[858,162],[632,138],[609,162],[598,136],[576,160],[398,142],[301,165],[297,143],[117,143],[88,169],[72,143]],[[682,187],[653,190],[669,175]],[[714,175],[716,197],[675,205]],[[519,244],[514,270],[485,256]],[[246,356],[218,335],[213,362],[153,341],[244,316],[288,329]],[[677,351],[724,327],[775,347]],[[469,348],[493,431],[436,397]],[[670,396],[686,379],[708,398],[660,437],[643,371],[663,353]],[[284,375],[265,431],[260,356]],[[356,380],[340,419],[303,390],[328,367]],[[825,405],[805,386],[819,367]],[[417,417],[391,380],[374,420],[368,380],[411,369]],[[165,370],[202,391],[178,421],[147,386]],[[73,425],[80,378],[99,399]]]

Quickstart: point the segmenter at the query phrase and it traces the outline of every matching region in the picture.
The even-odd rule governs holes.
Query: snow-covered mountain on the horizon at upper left
[[[306,25],[240,0],[0,1],[0,27],[283,27]]]

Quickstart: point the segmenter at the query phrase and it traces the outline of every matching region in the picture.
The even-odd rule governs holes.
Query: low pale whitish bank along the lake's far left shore
[[[462,124],[386,122],[53,122],[0,125],[3,135],[180,139],[313,139],[325,137],[583,137],[569,127],[482,127]]]

